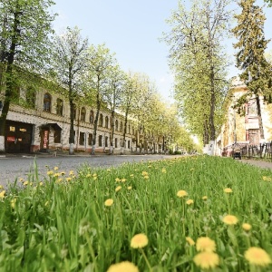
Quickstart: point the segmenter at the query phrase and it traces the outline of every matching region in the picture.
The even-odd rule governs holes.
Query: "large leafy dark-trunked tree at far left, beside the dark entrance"
[[[15,67],[41,74],[48,63],[54,15],[51,0],[2,0],[0,3],[0,79],[5,100],[0,116],[0,151],[5,151],[5,121],[18,78]]]

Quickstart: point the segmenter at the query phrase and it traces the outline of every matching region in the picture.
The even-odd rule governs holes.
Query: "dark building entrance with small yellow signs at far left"
[[[6,121],[5,151],[9,153],[29,153],[32,133],[32,124],[19,121]]]

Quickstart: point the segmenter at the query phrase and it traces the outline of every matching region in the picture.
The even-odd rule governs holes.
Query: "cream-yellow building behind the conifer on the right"
[[[241,147],[245,145],[257,146],[261,143],[255,96],[250,97],[248,102],[243,103],[239,108],[235,107],[238,99],[241,99],[246,93],[248,93],[247,85],[235,78],[228,91],[226,121],[222,125],[216,141],[216,155],[231,156],[234,143],[238,143]],[[260,96],[260,105],[264,141],[272,141],[272,105],[265,102],[262,96]]]

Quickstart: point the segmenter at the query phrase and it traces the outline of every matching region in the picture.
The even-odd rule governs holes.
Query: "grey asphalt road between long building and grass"
[[[141,160],[173,159],[169,155],[94,155],[94,156],[0,156],[0,185],[6,188],[7,184],[15,182],[15,179],[26,180],[29,173],[34,171],[34,162],[37,165],[39,175],[46,175],[48,169],[53,170],[57,166],[60,171],[77,170],[83,165],[92,168],[110,168],[121,165],[124,162],[139,162]],[[46,168],[46,166],[48,166]]]

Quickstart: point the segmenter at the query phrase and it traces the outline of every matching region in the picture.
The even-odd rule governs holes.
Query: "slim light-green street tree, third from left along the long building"
[[[113,54],[105,44],[97,46],[92,45],[89,48],[88,58],[86,59],[88,69],[84,74],[84,92],[91,102],[95,104],[95,117],[93,123],[92,135],[92,155],[95,153],[96,133],[98,119],[101,109],[105,105],[103,101],[105,93],[109,90],[109,73],[110,69],[116,63]]]

